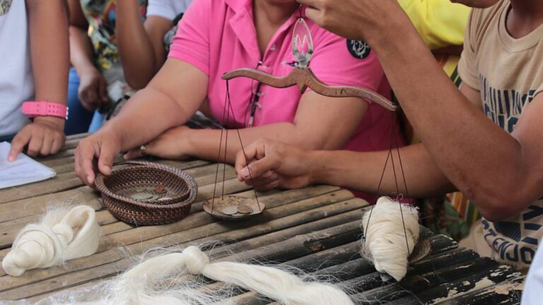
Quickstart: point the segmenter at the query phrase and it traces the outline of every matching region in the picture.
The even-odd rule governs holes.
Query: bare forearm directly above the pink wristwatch
[[[27,0],[35,100],[66,104],[68,18],[64,1]]]

